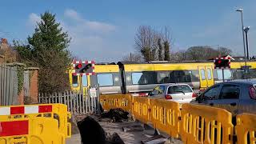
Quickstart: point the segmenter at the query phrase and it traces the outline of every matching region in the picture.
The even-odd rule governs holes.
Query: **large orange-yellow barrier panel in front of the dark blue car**
[[[182,105],[181,136],[184,143],[233,143],[234,126],[227,110],[191,104]]]

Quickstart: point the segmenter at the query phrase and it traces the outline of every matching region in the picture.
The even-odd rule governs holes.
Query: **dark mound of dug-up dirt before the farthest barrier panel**
[[[111,122],[126,122],[129,118],[129,113],[120,108],[110,109],[110,111],[102,113],[101,118],[110,118]]]

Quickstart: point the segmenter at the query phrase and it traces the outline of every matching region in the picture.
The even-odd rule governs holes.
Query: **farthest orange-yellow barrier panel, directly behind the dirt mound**
[[[122,110],[130,111],[131,96],[130,94],[101,95],[100,103],[104,110],[122,108]]]

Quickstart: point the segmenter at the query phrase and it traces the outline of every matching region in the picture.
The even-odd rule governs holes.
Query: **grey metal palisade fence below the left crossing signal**
[[[92,114],[98,112],[98,89],[95,88],[96,93],[93,95],[90,88],[85,92],[78,92],[75,90],[65,91],[54,94],[39,94],[39,103],[62,103],[67,106],[67,109],[74,115]]]

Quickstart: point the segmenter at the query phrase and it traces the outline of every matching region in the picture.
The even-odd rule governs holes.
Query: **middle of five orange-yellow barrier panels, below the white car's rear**
[[[150,99],[150,120],[154,128],[162,130],[173,138],[178,138],[180,109],[178,102]]]

